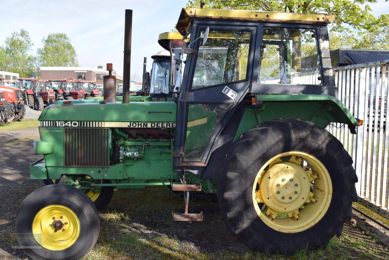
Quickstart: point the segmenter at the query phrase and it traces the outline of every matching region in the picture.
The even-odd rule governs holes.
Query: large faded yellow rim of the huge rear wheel
[[[252,188],[259,218],[284,233],[314,226],[326,214],[331,198],[328,170],[315,156],[301,151],[281,153],[268,160],[259,169]]]

